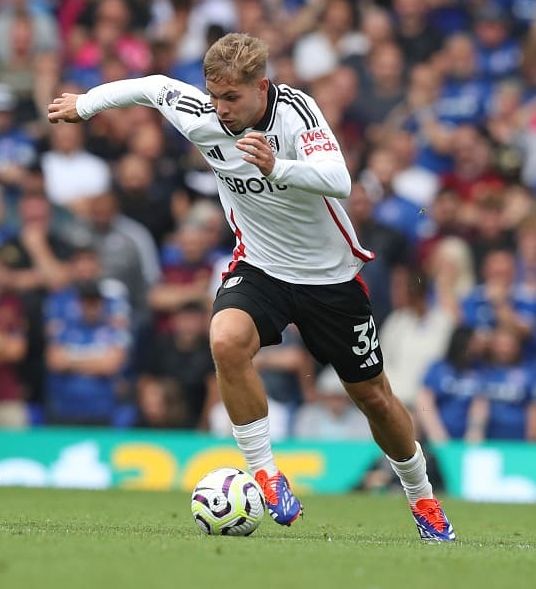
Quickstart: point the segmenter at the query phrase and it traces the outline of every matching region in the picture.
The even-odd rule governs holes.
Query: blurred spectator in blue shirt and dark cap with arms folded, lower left
[[[114,425],[129,346],[113,325],[95,281],[78,285],[80,315],[48,341],[46,415],[49,423]]]

